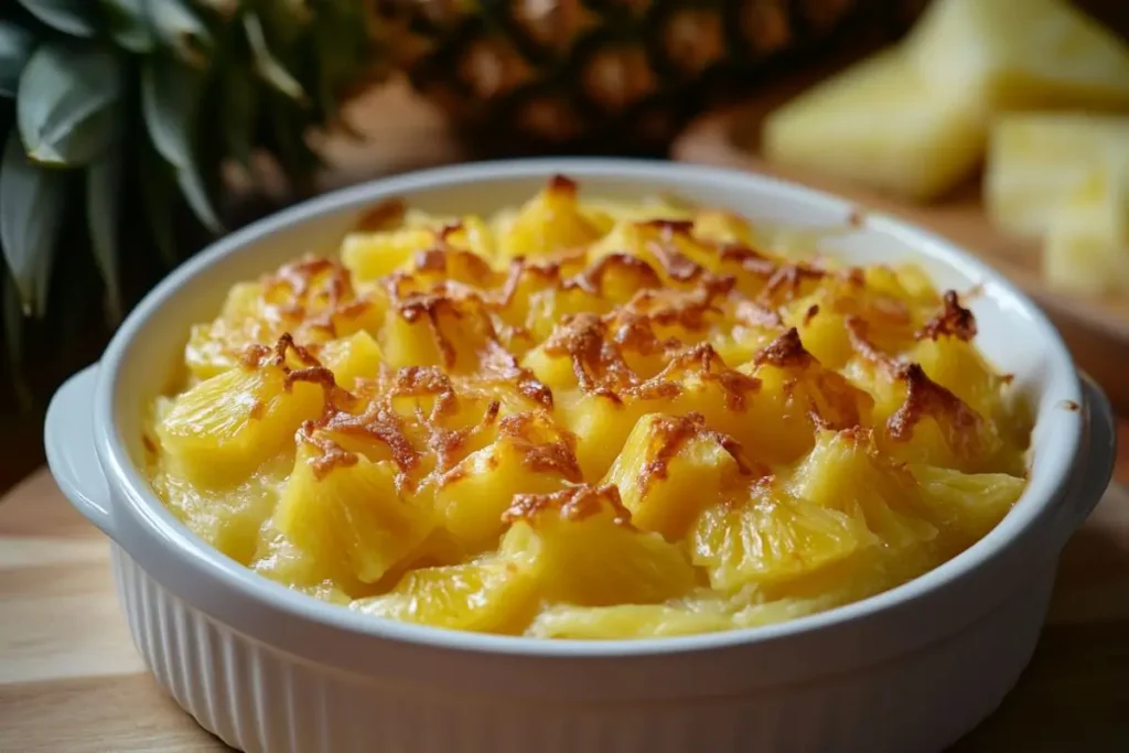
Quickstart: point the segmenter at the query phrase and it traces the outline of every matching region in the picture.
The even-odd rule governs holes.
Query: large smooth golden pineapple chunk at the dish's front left
[[[274,526],[315,562],[325,578],[375,583],[435,528],[426,499],[396,484],[391,461],[353,455],[324,467],[321,450],[303,443],[274,513]]]

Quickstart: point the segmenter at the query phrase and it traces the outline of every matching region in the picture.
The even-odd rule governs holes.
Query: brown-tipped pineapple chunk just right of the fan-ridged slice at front
[[[864,524],[884,549],[913,559],[937,529],[916,515],[920,489],[863,430],[821,431],[786,487],[794,497]]]

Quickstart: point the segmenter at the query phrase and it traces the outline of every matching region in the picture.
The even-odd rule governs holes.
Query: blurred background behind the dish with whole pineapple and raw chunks
[[[3,3],[0,491],[42,464],[59,383],[210,240],[341,185],[525,155],[758,169],[901,213],[1031,292],[1126,404],[1124,0],[314,7]]]

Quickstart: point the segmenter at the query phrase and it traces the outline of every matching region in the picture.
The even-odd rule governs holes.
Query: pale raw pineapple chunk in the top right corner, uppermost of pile
[[[1129,106],[1129,46],[1068,0],[936,0],[905,44],[931,96],[986,114]]]

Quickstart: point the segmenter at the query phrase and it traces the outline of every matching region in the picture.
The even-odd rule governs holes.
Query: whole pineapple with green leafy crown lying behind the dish
[[[391,70],[466,133],[636,151],[714,85],[754,82],[849,21],[920,2],[7,0],[8,360],[33,365],[46,394],[96,358],[99,312],[113,324],[222,231],[226,165],[265,150],[308,185],[318,159],[306,133]]]

